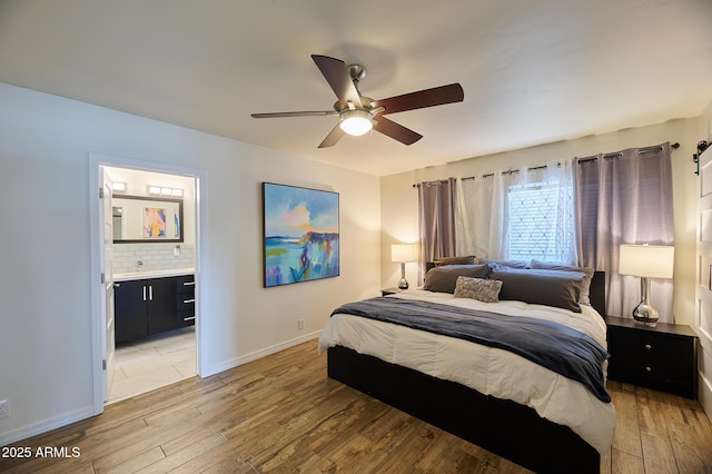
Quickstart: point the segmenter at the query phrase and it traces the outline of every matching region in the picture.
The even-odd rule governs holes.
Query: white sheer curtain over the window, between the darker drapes
[[[573,160],[457,178],[457,255],[576,263]]]

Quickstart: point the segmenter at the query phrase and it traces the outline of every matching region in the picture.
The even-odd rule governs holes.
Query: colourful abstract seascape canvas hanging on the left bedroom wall
[[[338,192],[263,182],[265,287],[339,275]]]

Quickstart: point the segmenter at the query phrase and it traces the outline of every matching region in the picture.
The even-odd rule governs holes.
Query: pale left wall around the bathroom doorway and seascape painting
[[[91,413],[89,152],[205,171],[204,375],[378,293],[378,178],[0,83],[0,445]],[[261,287],[264,180],[339,192],[339,277]]]

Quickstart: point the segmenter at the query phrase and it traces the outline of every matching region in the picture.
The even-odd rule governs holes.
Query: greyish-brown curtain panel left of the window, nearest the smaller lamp
[[[418,214],[418,285],[422,285],[426,261],[455,256],[455,179],[421,182]]]

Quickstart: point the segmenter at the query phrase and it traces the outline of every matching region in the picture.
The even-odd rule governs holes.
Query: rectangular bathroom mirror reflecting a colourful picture
[[[115,244],[182,241],[182,199],[113,196]]]

